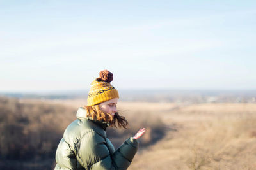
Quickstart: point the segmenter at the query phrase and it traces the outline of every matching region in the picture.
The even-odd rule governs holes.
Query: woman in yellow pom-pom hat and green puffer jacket
[[[78,109],[77,120],[68,125],[58,145],[55,169],[127,169],[131,164],[145,128],[115,150],[106,128],[125,128],[128,122],[117,113],[119,95],[112,80],[113,74],[104,70],[91,83],[87,106]]]

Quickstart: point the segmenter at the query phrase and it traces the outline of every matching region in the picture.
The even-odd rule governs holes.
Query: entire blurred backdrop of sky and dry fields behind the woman
[[[0,169],[54,169],[99,71],[129,169],[256,169],[255,1],[0,1]]]

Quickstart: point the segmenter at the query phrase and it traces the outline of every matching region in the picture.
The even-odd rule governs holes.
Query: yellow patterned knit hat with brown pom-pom
[[[91,83],[91,88],[87,98],[87,106],[102,103],[117,97],[118,91],[110,84],[113,80],[113,74],[108,70],[100,71],[100,77],[96,78]]]

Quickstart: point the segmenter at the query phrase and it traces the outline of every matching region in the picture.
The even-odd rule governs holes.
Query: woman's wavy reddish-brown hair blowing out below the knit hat
[[[116,127],[116,125],[118,125],[118,127],[124,127],[127,129],[128,121],[125,117],[120,116],[118,112],[116,112],[115,116],[112,117],[110,113],[104,113],[100,110],[98,104],[93,106],[83,106],[83,108],[86,109],[86,117],[110,122],[111,127]]]

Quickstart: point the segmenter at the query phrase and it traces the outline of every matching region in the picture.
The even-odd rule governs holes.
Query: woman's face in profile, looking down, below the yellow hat
[[[110,99],[109,101],[105,101],[99,104],[100,110],[102,110],[104,113],[110,113],[112,117],[114,117],[116,110],[116,104],[117,104],[118,98]]]

